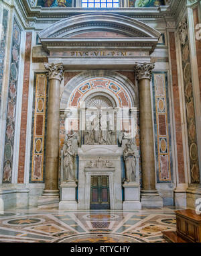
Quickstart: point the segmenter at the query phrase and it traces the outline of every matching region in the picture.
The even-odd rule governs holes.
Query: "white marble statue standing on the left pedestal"
[[[75,181],[74,159],[76,154],[72,147],[72,140],[64,142],[63,155],[64,181]]]

